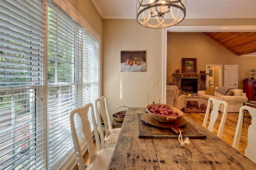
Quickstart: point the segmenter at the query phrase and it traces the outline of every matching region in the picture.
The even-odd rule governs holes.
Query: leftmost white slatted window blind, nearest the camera
[[[45,0],[0,3],[0,169],[46,168]]]

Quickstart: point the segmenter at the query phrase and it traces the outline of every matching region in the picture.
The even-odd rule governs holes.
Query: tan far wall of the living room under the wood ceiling
[[[173,33],[167,35],[167,84],[172,82],[172,73],[182,70],[182,58],[196,58],[197,72],[206,70],[206,64],[238,64],[238,88],[250,77],[250,69],[256,68],[256,57],[242,57],[233,54],[202,33]],[[224,70],[222,71],[224,77]],[[224,79],[223,79],[224,80]],[[224,85],[224,81],[222,81]]]

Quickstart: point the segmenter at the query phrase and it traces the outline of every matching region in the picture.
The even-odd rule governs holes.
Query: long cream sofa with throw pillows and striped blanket
[[[215,87],[214,96],[213,95],[206,95],[205,91],[198,91],[198,95],[200,96],[200,103],[203,103],[207,106],[208,99],[210,97],[222,101],[226,101],[228,103],[228,112],[239,112],[241,106],[243,106],[244,102],[248,101],[246,97],[246,93],[243,93],[242,89],[232,89],[233,94],[223,95],[216,91],[218,87]],[[223,112],[224,106],[220,107],[220,111]]]

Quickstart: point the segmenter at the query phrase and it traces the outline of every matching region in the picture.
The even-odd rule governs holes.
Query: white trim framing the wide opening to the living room
[[[256,25],[244,26],[171,26],[164,28],[163,35],[163,53],[162,53],[162,101],[166,103],[166,79],[167,79],[167,32],[255,32]]]

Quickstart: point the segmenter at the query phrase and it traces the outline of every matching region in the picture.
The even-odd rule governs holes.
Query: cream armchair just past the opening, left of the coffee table
[[[166,86],[166,104],[172,105],[178,109],[183,109],[185,107],[185,95],[180,95],[178,86]]]

